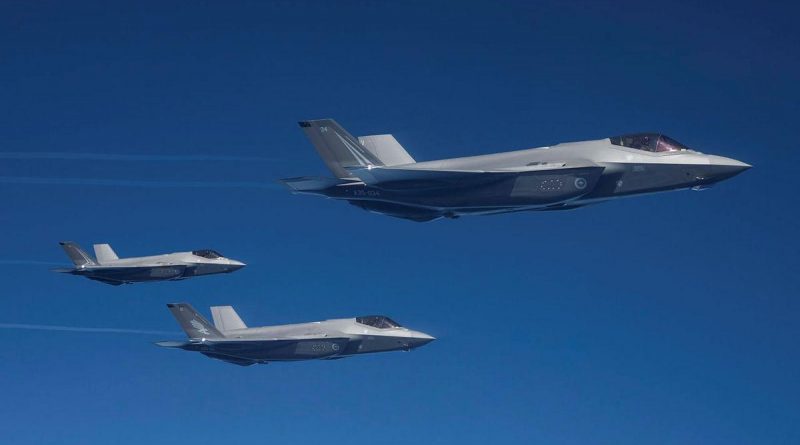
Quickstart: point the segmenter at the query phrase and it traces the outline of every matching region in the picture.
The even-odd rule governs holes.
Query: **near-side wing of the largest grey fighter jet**
[[[548,162],[546,164],[497,168],[485,170],[447,170],[421,168],[370,167],[354,168],[349,171],[365,184],[381,188],[431,188],[453,185],[472,186],[492,183],[528,175],[586,175],[596,179],[604,167],[590,162],[566,163]],[[590,181],[594,182],[594,181]]]

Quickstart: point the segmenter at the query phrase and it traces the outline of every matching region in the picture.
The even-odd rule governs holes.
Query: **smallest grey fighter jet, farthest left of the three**
[[[55,269],[55,272],[80,275],[113,286],[230,273],[245,266],[241,261],[225,258],[219,252],[209,249],[121,259],[108,244],[95,244],[95,259],[72,241],[62,241],[59,244],[67,252],[75,268]]]

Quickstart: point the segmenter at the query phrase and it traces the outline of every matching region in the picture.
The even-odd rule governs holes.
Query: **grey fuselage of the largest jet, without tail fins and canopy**
[[[571,209],[620,197],[706,188],[747,168],[749,165],[734,159],[689,149],[649,152],[601,139],[357,169],[353,171],[360,180],[294,190],[347,200],[377,213],[426,221],[468,214]]]

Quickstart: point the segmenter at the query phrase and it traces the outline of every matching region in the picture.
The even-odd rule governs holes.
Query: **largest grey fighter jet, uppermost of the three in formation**
[[[303,121],[300,127],[335,178],[281,180],[293,192],[413,221],[568,210],[627,196],[700,190],[750,168],[658,133],[416,162],[390,134],[354,138],[332,119]]]

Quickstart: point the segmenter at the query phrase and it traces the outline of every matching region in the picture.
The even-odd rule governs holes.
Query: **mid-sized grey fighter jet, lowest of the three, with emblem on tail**
[[[240,366],[410,351],[434,340],[383,315],[248,328],[231,306],[211,308],[213,325],[187,303],[167,307],[189,341],[161,341],[158,346],[195,351]]]

